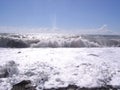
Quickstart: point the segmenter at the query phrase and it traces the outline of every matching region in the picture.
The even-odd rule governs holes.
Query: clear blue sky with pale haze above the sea
[[[120,0],[0,0],[0,32],[120,32]]]

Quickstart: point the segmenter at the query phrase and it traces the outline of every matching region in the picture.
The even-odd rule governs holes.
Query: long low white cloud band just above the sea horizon
[[[3,33],[76,33],[76,34],[119,34],[108,29],[106,24],[99,28],[92,29],[60,29],[60,28],[46,28],[46,27],[36,27],[36,28],[26,28],[26,27],[10,27],[10,26],[0,26],[0,32]]]

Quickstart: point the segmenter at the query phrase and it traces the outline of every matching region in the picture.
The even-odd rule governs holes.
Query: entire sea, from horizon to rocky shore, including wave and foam
[[[120,89],[120,36],[0,34],[0,90],[30,80],[36,90]],[[51,89],[52,90],[52,89]]]

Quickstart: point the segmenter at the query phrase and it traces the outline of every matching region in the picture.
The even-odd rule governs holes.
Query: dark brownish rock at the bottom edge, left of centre
[[[35,86],[31,85],[30,80],[23,80],[20,83],[13,85],[11,90],[36,90],[35,88]]]

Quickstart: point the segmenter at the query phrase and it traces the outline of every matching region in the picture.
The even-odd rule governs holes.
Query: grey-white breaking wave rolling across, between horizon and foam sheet
[[[120,47],[120,36],[68,34],[0,34],[0,47]]]

